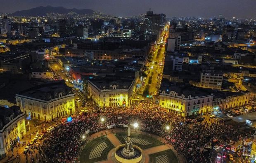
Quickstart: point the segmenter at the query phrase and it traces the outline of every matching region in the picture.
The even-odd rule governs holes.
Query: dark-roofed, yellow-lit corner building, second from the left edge
[[[16,94],[17,105],[29,118],[47,121],[75,113],[75,95],[64,81],[52,81]]]

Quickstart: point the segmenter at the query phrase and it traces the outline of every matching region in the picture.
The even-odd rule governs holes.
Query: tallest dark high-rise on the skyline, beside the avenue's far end
[[[153,14],[149,9],[145,15],[145,40],[156,40],[160,30],[160,14]]]

